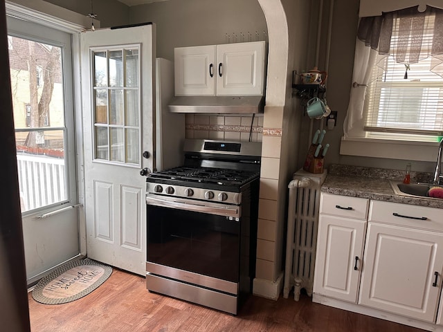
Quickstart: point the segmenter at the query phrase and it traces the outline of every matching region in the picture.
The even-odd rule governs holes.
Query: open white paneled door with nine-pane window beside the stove
[[[152,25],[81,35],[87,256],[139,275],[146,261],[140,170],[155,161],[154,35]]]

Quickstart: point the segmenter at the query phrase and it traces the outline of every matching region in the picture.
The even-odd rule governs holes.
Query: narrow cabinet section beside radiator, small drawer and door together
[[[314,293],[357,301],[368,199],[321,193]]]

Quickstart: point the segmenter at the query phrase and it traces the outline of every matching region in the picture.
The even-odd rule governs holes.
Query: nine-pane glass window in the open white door
[[[120,50],[97,50],[92,53],[94,75],[92,86],[95,160],[140,165],[140,50],[138,46]],[[108,56],[109,60],[103,61]],[[100,70],[98,70],[99,68]],[[101,84],[101,85],[97,85]]]

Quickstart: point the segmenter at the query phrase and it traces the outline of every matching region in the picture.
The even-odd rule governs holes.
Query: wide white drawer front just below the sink
[[[443,231],[443,210],[426,206],[371,201],[369,221]]]

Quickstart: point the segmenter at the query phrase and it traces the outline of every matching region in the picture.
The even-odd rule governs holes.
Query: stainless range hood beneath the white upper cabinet
[[[173,113],[263,113],[263,95],[177,96],[169,104]]]

